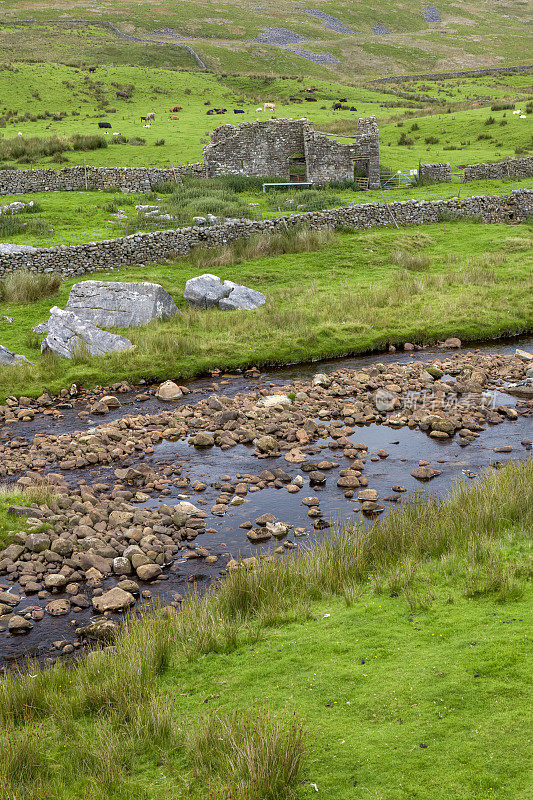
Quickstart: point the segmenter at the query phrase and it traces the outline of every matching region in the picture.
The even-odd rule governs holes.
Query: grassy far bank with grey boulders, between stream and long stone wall
[[[278,252],[284,247],[280,241]],[[244,251],[241,245],[222,252],[197,248],[174,263],[91,276],[155,281],[182,311],[125,331],[136,345],[129,354],[75,362],[40,356],[31,327],[48,319],[52,305],[64,307],[79,278],[34,302],[0,303],[2,344],[34,362],[0,370],[0,396],[57,392],[73,381],[87,386],[123,378],[183,381],[213,367],[298,362],[447,336],[473,341],[533,326],[532,276],[524,257],[531,250],[527,225],[447,222],[423,230],[314,236],[310,242],[304,235],[300,244],[288,242],[288,249],[304,252],[257,257],[264,246],[250,240]],[[246,314],[186,308],[185,282],[206,271],[264,292],[266,305]],[[14,322],[1,321],[3,315]]]

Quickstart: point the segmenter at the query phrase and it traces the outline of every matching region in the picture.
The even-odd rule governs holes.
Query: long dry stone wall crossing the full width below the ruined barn
[[[60,272],[65,276],[83,275],[130,264],[162,261],[175,255],[187,255],[191,248],[200,244],[226,244],[254,233],[273,233],[300,224],[317,230],[339,227],[365,229],[375,225],[422,225],[450,218],[479,218],[485,223],[521,222],[532,215],[533,190],[528,189],[511,192],[508,197],[484,195],[464,200],[366,203],[259,222],[242,219],[207,228],[138,233],[71,247],[63,245],[24,253],[5,253],[0,254],[0,276],[19,269]]]

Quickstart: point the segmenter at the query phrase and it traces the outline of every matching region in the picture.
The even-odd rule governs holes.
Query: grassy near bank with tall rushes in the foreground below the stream
[[[0,682],[16,800],[525,800],[533,462]],[[529,653],[530,655],[530,653]]]

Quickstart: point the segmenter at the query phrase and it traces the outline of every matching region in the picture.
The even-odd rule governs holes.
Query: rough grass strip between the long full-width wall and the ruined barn
[[[258,181],[259,182],[259,181]],[[206,186],[203,197],[197,189]],[[219,188],[220,187],[220,188]],[[385,193],[387,202],[393,200],[447,200],[483,194],[507,195],[514,189],[533,189],[533,178],[503,181],[472,181],[413,186],[407,189],[390,189]],[[187,201],[187,198],[190,200]],[[35,247],[53,247],[61,244],[81,244],[99,239],[128,235],[137,230],[160,230],[191,225],[198,214],[216,214],[219,218],[248,217],[267,219],[298,210],[315,211],[336,206],[383,202],[378,190],[368,192],[326,188],[323,190],[289,190],[285,192],[252,191],[234,192],[226,188],[226,181],[217,179],[208,185],[200,180],[185,180],[183,188],[170,195],[128,194],[120,192],[48,192],[27,195],[5,195],[0,205],[21,201],[32,203],[26,211],[0,217],[0,240]],[[170,213],[171,221],[152,221],[135,210],[136,205],[156,205],[162,213]],[[124,213],[124,219],[117,215]]]

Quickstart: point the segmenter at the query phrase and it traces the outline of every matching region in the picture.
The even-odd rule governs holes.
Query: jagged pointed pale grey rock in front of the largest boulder
[[[54,306],[50,309],[48,335],[41,342],[41,353],[50,350],[63,358],[73,358],[87,349],[92,356],[130,350],[133,344],[125,336],[101,331],[92,322],[84,322],[72,311]]]

